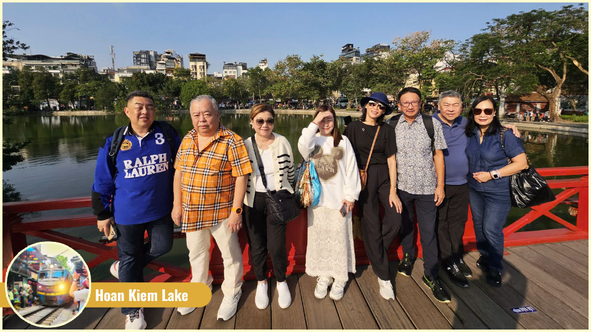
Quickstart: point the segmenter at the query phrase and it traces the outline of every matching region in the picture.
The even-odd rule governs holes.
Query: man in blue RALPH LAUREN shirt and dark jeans
[[[98,229],[105,236],[111,224],[117,226],[119,261],[111,265],[111,274],[120,282],[143,282],[144,266],[173,246],[171,161],[181,140],[173,127],[154,122],[154,97],[150,93],[129,93],[124,111],[129,125],[123,128],[114,164],[113,152],[109,152],[111,142],[119,137],[113,134],[118,131],[99,149],[92,207]],[[148,243],[144,243],[146,231]],[[141,308],[121,308],[121,312],[126,315],[126,329],[146,327]]]

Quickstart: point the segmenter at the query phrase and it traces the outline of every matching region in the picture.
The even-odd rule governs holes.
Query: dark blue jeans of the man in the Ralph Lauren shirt
[[[144,232],[150,241],[144,243]],[[144,282],[144,267],[173,248],[173,219],[170,213],[142,224],[117,224],[119,282]],[[139,308],[121,308],[128,315]]]

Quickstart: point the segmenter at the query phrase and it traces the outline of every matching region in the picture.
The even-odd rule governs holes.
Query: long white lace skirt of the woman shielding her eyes
[[[338,210],[309,207],[306,274],[347,281],[348,272],[355,273],[351,213],[343,218]]]

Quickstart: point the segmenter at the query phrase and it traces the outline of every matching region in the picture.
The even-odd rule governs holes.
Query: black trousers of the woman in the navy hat
[[[359,194],[359,216],[363,244],[374,273],[382,280],[390,279],[388,249],[400,232],[401,216],[396,207],[390,207],[390,177],[388,165],[371,165],[365,189]],[[385,216],[380,220],[379,201]]]

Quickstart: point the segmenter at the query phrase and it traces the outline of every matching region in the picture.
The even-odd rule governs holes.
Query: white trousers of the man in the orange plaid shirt
[[[212,236],[222,253],[223,282],[225,297],[234,297],[242,287],[242,250],[238,243],[238,232],[230,233],[228,219],[215,226],[187,233],[187,248],[191,263],[191,282],[203,282],[211,286],[213,277],[209,274],[209,249]]]

